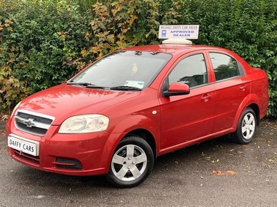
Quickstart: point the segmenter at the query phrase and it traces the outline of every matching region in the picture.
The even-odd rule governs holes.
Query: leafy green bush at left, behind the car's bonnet
[[[89,18],[73,1],[70,6],[64,1],[1,2],[0,30],[2,108],[62,83],[86,64],[76,60],[89,46]]]

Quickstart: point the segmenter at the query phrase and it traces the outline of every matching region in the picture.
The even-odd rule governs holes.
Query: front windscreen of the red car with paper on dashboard
[[[67,83],[113,90],[118,87],[143,90],[152,83],[171,57],[159,52],[117,51],[96,61]]]

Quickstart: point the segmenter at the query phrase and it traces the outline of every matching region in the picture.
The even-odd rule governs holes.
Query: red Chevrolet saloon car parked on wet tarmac
[[[267,114],[268,79],[230,50],[161,44],[118,50],[19,103],[8,153],[66,175],[141,184],[163,154],[231,133],[249,143]]]

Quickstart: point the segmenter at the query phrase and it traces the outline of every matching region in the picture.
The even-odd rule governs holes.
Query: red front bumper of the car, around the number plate
[[[112,152],[120,134],[106,131],[88,134],[58,134],[60,126],[51,126],[44,136],[32,135],[15,127],[12,118],[6,124],[6,137],[17,135],[39,142],[39,155],[8,147],[8,153],[21,164],[64,175],[107,174]]]

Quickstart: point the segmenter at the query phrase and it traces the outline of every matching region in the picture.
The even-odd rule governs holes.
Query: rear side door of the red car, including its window
[[[250,94],[251,82],[235,58],[218,51],[209,51],[208,55],[215,73],[213,132],[220,132],[233,127],[242,100]]]

